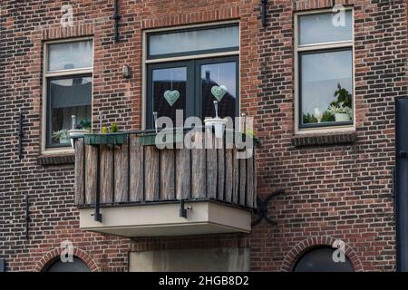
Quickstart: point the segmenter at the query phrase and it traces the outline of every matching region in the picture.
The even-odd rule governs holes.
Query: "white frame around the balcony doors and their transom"
[[[147,45],[147,38],[148,34],[160,33],[160,32],[169,32],[172,31],[179,31],[183,29],[190,29],[190,28],[199,28],[199,27],[208,27],[211,28],[213,26],[222,25],[222,24],[238,24],[238,43],[239,49],[238,51],[230,51],[230,52],[221,52],[221,53],[203,53],[203,54],[194,54],[194,55],[186,55],[186,56],[175,56],[175,57],[167,57],[167,58],[158,58],[158,59],[148,59],[148,45]],[[202,59],[202,58],[214,58],[214,57],[222,57],[222,56],[238,56],[238,92],[241,92],[241,82],[240,82],[240,66],[241,66],[241,29],[239,20],[228,20],[228,21],[220,21],[216,23],[206,23],[206,24],[189,24],[189,25],[182,25],[176,27],[165,27],[165,28],[153,28],[153,29],[146,29],[142,33],[142,72],[141,72],[141,93],[142,93],[142,102],[141,102],[141,129],[146,129],[146,103],[147,103],[147,65],[150,63],[168,63],[168,62],[177,62],[177,61],[187,61],[191,59]],[[240,93],[238,93],[240,96]],[[241,102],[238,102],[238,115],[240,115],[241,111]]]

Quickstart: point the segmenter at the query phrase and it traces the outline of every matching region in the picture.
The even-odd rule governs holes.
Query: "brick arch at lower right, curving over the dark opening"
[[[280,270],[282,272],[290,272],[293,270],[293,267],[296,264],[297,259],[302,256],[306,251],[319,246],[332,246],[335,242],[335,237],[308,237],[305,240],[298,243],[295,247],[287,253],[285,259],[282,263]],[[345,244],[345,255],[349,258],[352,263],[355,272],[362,272],[363,265],[360,258],[355,254],[355,251],[352,247],[349,247]]]

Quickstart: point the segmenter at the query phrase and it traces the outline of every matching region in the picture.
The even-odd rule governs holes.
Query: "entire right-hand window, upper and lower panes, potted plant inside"
[[[341,13],[296,15],[299,129],[353,125],[353,11]]]

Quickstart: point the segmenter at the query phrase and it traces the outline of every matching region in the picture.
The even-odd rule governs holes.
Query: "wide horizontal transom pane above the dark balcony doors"
[[[232,49],[239,46],[239,27],[219,27],[149,36],[151,56]]]

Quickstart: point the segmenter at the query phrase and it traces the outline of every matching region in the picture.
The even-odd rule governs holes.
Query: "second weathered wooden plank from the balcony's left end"
[[[95,203],[96,197],[96,161],[98,149],[94,146],[85,146],[85,203]]]

